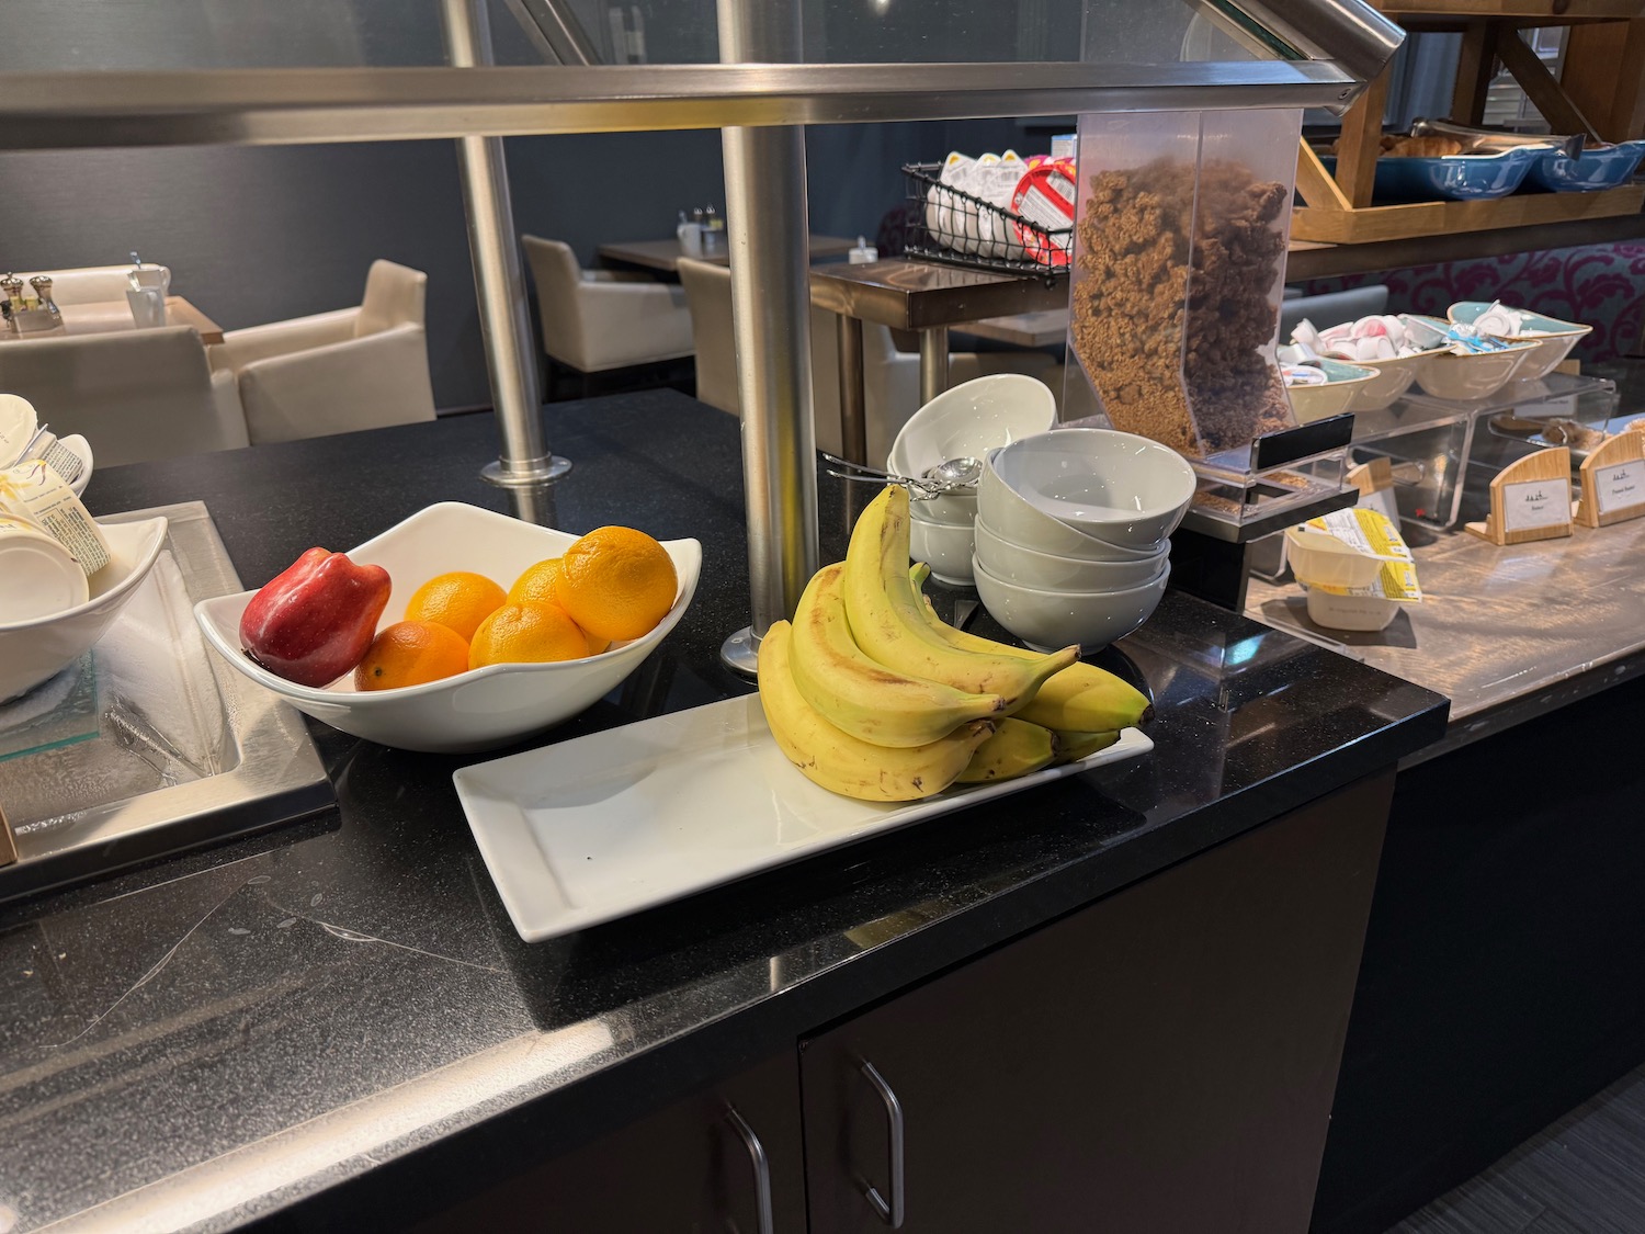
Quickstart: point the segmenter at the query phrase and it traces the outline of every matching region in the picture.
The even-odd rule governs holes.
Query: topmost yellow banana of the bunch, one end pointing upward
[[[846,614],[857,647],[887,668],[943,681],[974,694],[1000,694],[1005,714],[1035,696],[1053,673],[1079,658],[1077,647],[1051,655],[954,647],[926,620],[908,579],[908,492],[887,485],[857,518],[846,553]]]

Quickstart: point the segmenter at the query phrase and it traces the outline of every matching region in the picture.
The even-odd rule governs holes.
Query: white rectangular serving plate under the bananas
[[[877,805],[806,780],[748,694],[451,778],[515,930],[538,943],[1152,749],[1125,729],[1076,763]]]

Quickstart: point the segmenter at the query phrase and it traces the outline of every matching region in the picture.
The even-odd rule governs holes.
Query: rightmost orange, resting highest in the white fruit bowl
[[[597,638],[638,638],[674,605],[679,579],[666,550],[632,527],[589,531],[561,558],[554,599]]]

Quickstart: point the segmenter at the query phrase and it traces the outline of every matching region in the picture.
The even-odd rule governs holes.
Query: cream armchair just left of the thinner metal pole
[[[229,331],[211,362],[232,373],[252,444],[433,420],[426,290],[421,270],[378,260],[357,308]]]

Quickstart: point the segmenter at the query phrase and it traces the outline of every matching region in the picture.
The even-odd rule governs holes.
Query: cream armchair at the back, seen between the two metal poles
[[[584,270],[571,245],[521,235],[536,283],[543,350],[554,364],[602,373],[691,355],[684,291],[645,275]]]

